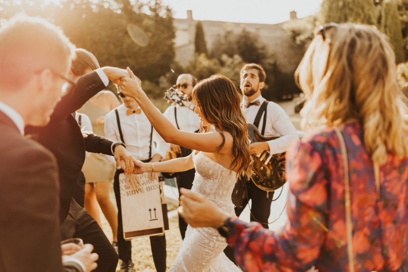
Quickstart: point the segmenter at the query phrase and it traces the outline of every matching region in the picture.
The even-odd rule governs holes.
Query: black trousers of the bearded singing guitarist
[[[266,192],[259,189],[256,187],[252,181],[247,181],[246,182],[246,188],[248,192],[248,197],[247,199],[244,200],[244,203],[242,207],[235,207],[235,214],[237,216],[240,216],[242,211],[245,209],[246,205],[248,204],[248,200],[252,200],[252,205],[251,205],[251,216],[250,216],[250,221],[259,221],[262,222],[261,225],[265,228],[268,229],[268,222],[269,215],[270,215],[270,205],[272,203],[272,199],[274,196],[274,192],[269,192],[269,198],[266,195]],[[234,258],[234,249],[230,246],[227,246],[224,249],[225,255],[232,260],[234,263],[236,263],[235,258]]]

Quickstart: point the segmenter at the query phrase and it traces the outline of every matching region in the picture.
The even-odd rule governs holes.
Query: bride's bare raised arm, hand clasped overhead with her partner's
[[[223,137],[219,132],[194,133],[179,130],[164,117],[164,115],[154,106],[142,89],[140,80],[134,76],[133,72],[127,68],[130,78],[121,78],[121,92],[136,100],[143,112],[149,118],[149,121],[154,126],[156,131],[167,143],[183,146],[192,150],[198,150],[209,153],[224,153],[229,152],[232,146],[232,137],[225,134],[225,145],[221,150],[218,148],[223,143]],[[200,115],[199,109],[195,112]]]

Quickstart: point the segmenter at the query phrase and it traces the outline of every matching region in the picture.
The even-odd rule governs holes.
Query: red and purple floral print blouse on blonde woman
[[[388,154],[378,194],[361,125],[339,129],[348,151],[355,271],[407,271],[408,158]],[[238,264],[245,271],[348,271],[344,165],[332,128],[288,151],[287,177],[289,220],[280,233],[228,222]]]

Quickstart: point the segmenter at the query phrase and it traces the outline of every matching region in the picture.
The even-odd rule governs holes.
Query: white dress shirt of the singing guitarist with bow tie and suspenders
[[[245,108],[245,103],[247,101],[245,99],[242,100],[241,106],[242,110],[245,113],[247,123],[253,124],[260,106],[266,99],[259,95],[251,102],[255,102],[256,100],[259,100],[259,106],[252,105],[248,108]],[[262,114],[259,121],[259,132],[262,131],[263,115],[264,114]],[[269,101],[268,106],[266,107],[266,124],[264,137],[280,137],[276,140],[270,140],[267,142],[270,154],[286,152],[290,145],[299,142],[296,128],[290,121],[289,115],[281,106],[271,101]]]

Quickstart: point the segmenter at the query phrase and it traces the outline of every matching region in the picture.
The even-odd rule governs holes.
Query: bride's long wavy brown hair
[[[238,168],[238,175],[250,177],[252,173],[252,158],[249,151],[248,126],[241,109],[241,102],[234,83],[223,75],[213,75],[201,80],[192,92],[193,100],[200,106],[202,116],[216,128],[223,138],[218,152],[225,144],[223,131],[229,132],[233,139],[231,162]],[[209,127],[202,127],[200,132],[208,132]]]

